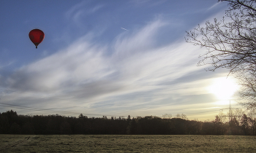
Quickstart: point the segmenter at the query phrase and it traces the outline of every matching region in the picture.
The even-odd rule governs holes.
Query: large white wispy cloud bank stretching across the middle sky
[[[105,46],[91,42],[91,35],[83,36],[67,49],[23,66],[4,79],[8,89],[23,94],[4,93],[3,99],[120,115],[157,113],[163,107],[170,109],[180,96],[207,94],[207,80],[177,82],[184,76],[197,77],[193,72],[203,69],[196,66],[200,49],[185,42],[157,46],[157,31],[166,25],[154,20]]]

